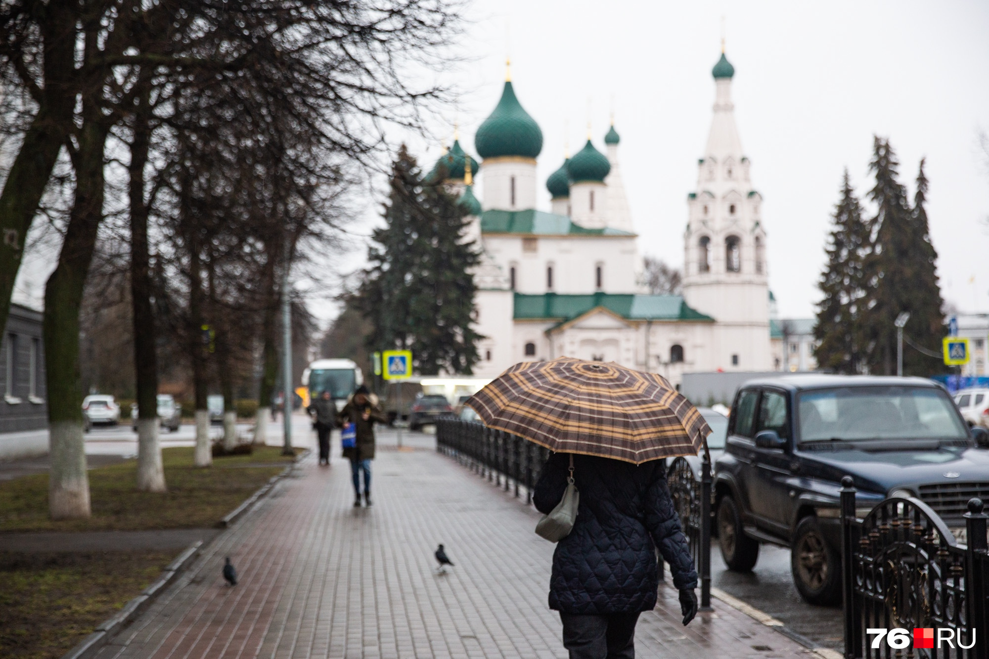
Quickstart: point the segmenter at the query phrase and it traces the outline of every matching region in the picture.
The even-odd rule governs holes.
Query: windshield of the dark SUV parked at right
[[[939,389],[847,387],[803,392],[797,400],[801,441],[968,437]]]

